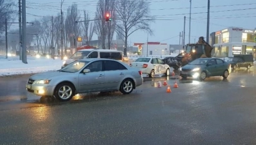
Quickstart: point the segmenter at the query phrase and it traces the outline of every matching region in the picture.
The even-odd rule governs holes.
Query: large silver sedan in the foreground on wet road
[[[26,83],[35,95],[68,101],[76,93],[120,91],[132,93],[143,84],[142,72],[113,59],[81,59],[61,70],[37,73]]]

